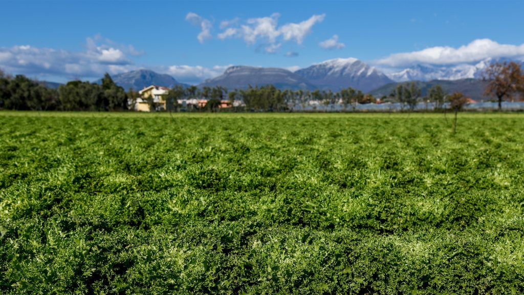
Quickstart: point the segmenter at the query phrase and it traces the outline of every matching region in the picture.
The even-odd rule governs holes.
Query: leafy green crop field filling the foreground
[[[0,112],[1,289],[523,293],[523,119]]]

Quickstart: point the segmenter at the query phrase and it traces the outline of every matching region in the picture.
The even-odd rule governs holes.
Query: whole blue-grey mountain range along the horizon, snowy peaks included
[[[220,85],[227,89],[245,89],[274,85],[280,89],[332,91],[353,87],[375,96],[387,96],[399,82],[418,81],[422,92],[439,83],[446,91],[462,91],[473,99],[484,100],[487,98],[482,94],[485,85],[481,80],[482,73],[494,61],[505,60],[488,58],[471,64],[446,66],[417,64],[386,72],[356,58],[330,59],[294,72],[282,68],[233,66],[222,75],[203,81],[198,87]],[[518,62],[524,66],[523,61]],[[126,90],[130,87],[138,90],[149,85],[188,86],[167,74],[146,69],[121,73],[112,78]]]

